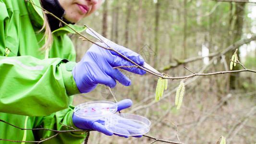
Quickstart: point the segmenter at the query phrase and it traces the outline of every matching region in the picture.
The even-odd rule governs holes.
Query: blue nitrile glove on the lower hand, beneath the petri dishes
[[[124,100],[121,100],[119,102],[116,103],[117,105],[117,111],[120,111],[122,109],[125,109],[125,108],[129,108],[133,105],[133,102],[131,99],[124,99]],[[120,135],[120,134],[116,134],[116,133],[113,133],[113,132],[110,132],[108,131],[106,128],[105,128],[105,118],[101,118],[101,119],[83,119],[83,118],[80,118],[80,117],[77,117],[74,113],[73,113],[73,123],[74,125],[79,128],[79,129],[85,129],[85,130],[88,130],[88,129],[92,129],[92,130],[96,130],[98,132],[102,132],[106,135],[118,135],[118,136],[122,136],[122,137],[126,137],[128,138],[129,136],[126,136],[126,135]],[[124,123],[121,123],[119,127],[116,127],[117,130],[119,130],[120,128],[141,128],[141,126],[137,123],[133,123],[133,122],[128,122],[127,123],[127,120],[124,122]],[[120,131],[122,131],[122,133],[125,133],[123,132],[122,129],[120,129]],[[128,134],[129,132],[127,132]],[[137,135],[137,136],[134,136],[134,137],[142,137],[142,135]]]

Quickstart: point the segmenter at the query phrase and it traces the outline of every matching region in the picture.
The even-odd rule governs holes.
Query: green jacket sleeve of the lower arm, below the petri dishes
[[[37,117],[36,120],[36,128],[46,128],[50,130],[58,130],[58,131],[68,131],[73,130],[66,126],[73,127],[76,130],[80,130],[76,128],[73,124],[72,120],[73,116],[73,108],[67,108],[56,113],[53,113],[46,117]],[[62,123],[62,124],[61,124]],[[64,126],[64,125],[66,126]],[[57,132],[40,130],[35,131],[34,135],[36,140],[40,140],[42,138],[49,138],[50,136],[55,135]],[[82,144],[85,137],[86,132],[61,132],[56,137],[51,138],[42,144]]]

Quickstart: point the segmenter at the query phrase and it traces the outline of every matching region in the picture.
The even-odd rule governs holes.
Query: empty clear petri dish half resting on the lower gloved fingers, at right
[[[126,136],[142,135],[149,132],[150,121],[146,118],[128,114],[113,114],[105,118],[105,128],[110,132]]]

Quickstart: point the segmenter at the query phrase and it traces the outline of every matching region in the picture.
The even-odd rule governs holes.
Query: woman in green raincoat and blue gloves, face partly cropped
[[[40,6],[39,0],[28,1]],[[133,64],[97,45],[92,45],[80,62],[72,62],[75,61],[75,51],[66,34],[74,32],[30,2],[0,0],[0,119],[25,129],[69,130],[61,122],[71,124],[75,129],[94,129],[113,135],[104,128],[104,121],[85,121],[73,115],[73,95],[88,93],[97,84],[114,87],[115,80],[130,85],[131,81],[125,75],[112,68]],[[85,28],[72,24],[101,5],[101,0],[41,2],[43,8],[79,32]],[[109,46],[139,65],[144,63],[139,54],[127,48]],[[126,70],[146,73],[136,68]],[[122,110],[130,107],[132,101],[123,100],[117,105]],[[55,134],[42,130],[22,131],[3,122],[0,122],[0,130],[0,139],[15,141],[38,141]],[[81,144],[85,136],[81,132],[64,132],[44,143]],[[13,144],[0,141],[0,144],[9,143]]]

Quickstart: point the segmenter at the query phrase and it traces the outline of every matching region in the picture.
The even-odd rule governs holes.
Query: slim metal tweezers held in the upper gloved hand
[[[99,35],[96,31],[94,31],[92,28],[87,27],[86,29],[86,33],[95,37],[96,39],[98,39],[99,41],[105,43],[105,44],[113,44],[113,45],[117,45],[116,43],[110,41],[109,39],[105,38],[104,36]],[[156,69],[154,69],[153,67],[151,67],[149,64],[147,64],[146,62],[144,62],[144,64],[142,65],[145,69],[147,69],[150,72],[153,72],[155,74],[159,74],[162,75],[160,72],[158,72]]]

